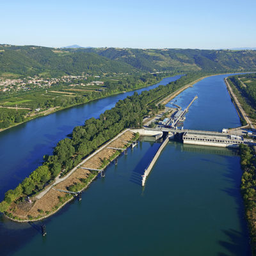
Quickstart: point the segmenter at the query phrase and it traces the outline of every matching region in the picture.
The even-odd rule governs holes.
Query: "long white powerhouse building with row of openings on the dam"
[[[182,136],[184,144],[214,147],[238,147],[243,144],[242,136],[223,134],[221,132],[187,131]]]

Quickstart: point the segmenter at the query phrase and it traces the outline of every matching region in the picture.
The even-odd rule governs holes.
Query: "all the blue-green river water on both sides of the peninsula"
[[[226,76],[207,77],[180,93],[177,104],[183,108],[198,95],[184,128],[219,131],[240,125],[223,81]],[[1,132],[1,199],[74,126],[97,118],[132,93]],[[141,141],[127,156],[120,156],[117,166],[107,168],[106,177],[83,192],[81,202],[43,221],[45,237],[40,234],[42,222],[20,224],[0,216],[0,255],[250,255],[237,151],[170,142],[141,188],[141,173],[158,147]]]

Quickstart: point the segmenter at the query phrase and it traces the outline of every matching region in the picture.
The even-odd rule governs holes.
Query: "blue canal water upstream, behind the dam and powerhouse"
[[[240,126],[236,109],[225,86],[224,77],[227,76],[206,77],[173,99],[184,109],[198,96],[186,114],[184,129],[221,131],[223,128]]]

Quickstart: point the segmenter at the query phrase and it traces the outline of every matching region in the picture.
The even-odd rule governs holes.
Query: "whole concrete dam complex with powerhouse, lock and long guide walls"
[[[197,96],[191,100],[188,107],[183,111],[177,104],[173,104],[177,106],[177,112],[174,113],[170,118],[164,118],[163,122],[159,122],[156,128],[144,127],[143,129],[134,129],[133,132],[139,132],[141,136],[154,136],[156,140],[163,137],[163,143],[157,150],[155,156],[152,161],[148,164],[145,169],[144,174],[142,175],[142,186],[145,186],[145,182],[148,174],[152,170],[154,164],[157,161],[157,158],[160,156],[163,148],[167,145],[169,140],[178,140],[182,141],[184,144],[192,144],[192,145],[203,145],[203,146],[213,146],[213,147],[232,147],[237,148],[240,144],[250,144],[256,145],[252,140],[244,139],[241,136],[241,131],[233,131],[230,132],[228,129],[223,129],[222,132],[216,131],[197,131],[197,130],[189,130],[178,129],[180,126],[179,121],[182,122],[186,119],[185,115],[188,113],[189,107],[193,104],[193,102],[198,99]],[[183,125],[183,123],[182,123]]]

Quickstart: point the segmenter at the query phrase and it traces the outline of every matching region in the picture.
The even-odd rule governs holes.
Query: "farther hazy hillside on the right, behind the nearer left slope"
[[[256,51],[198,50],[198,49],[77,49],[122,61],[143,71],[255,70]]]

